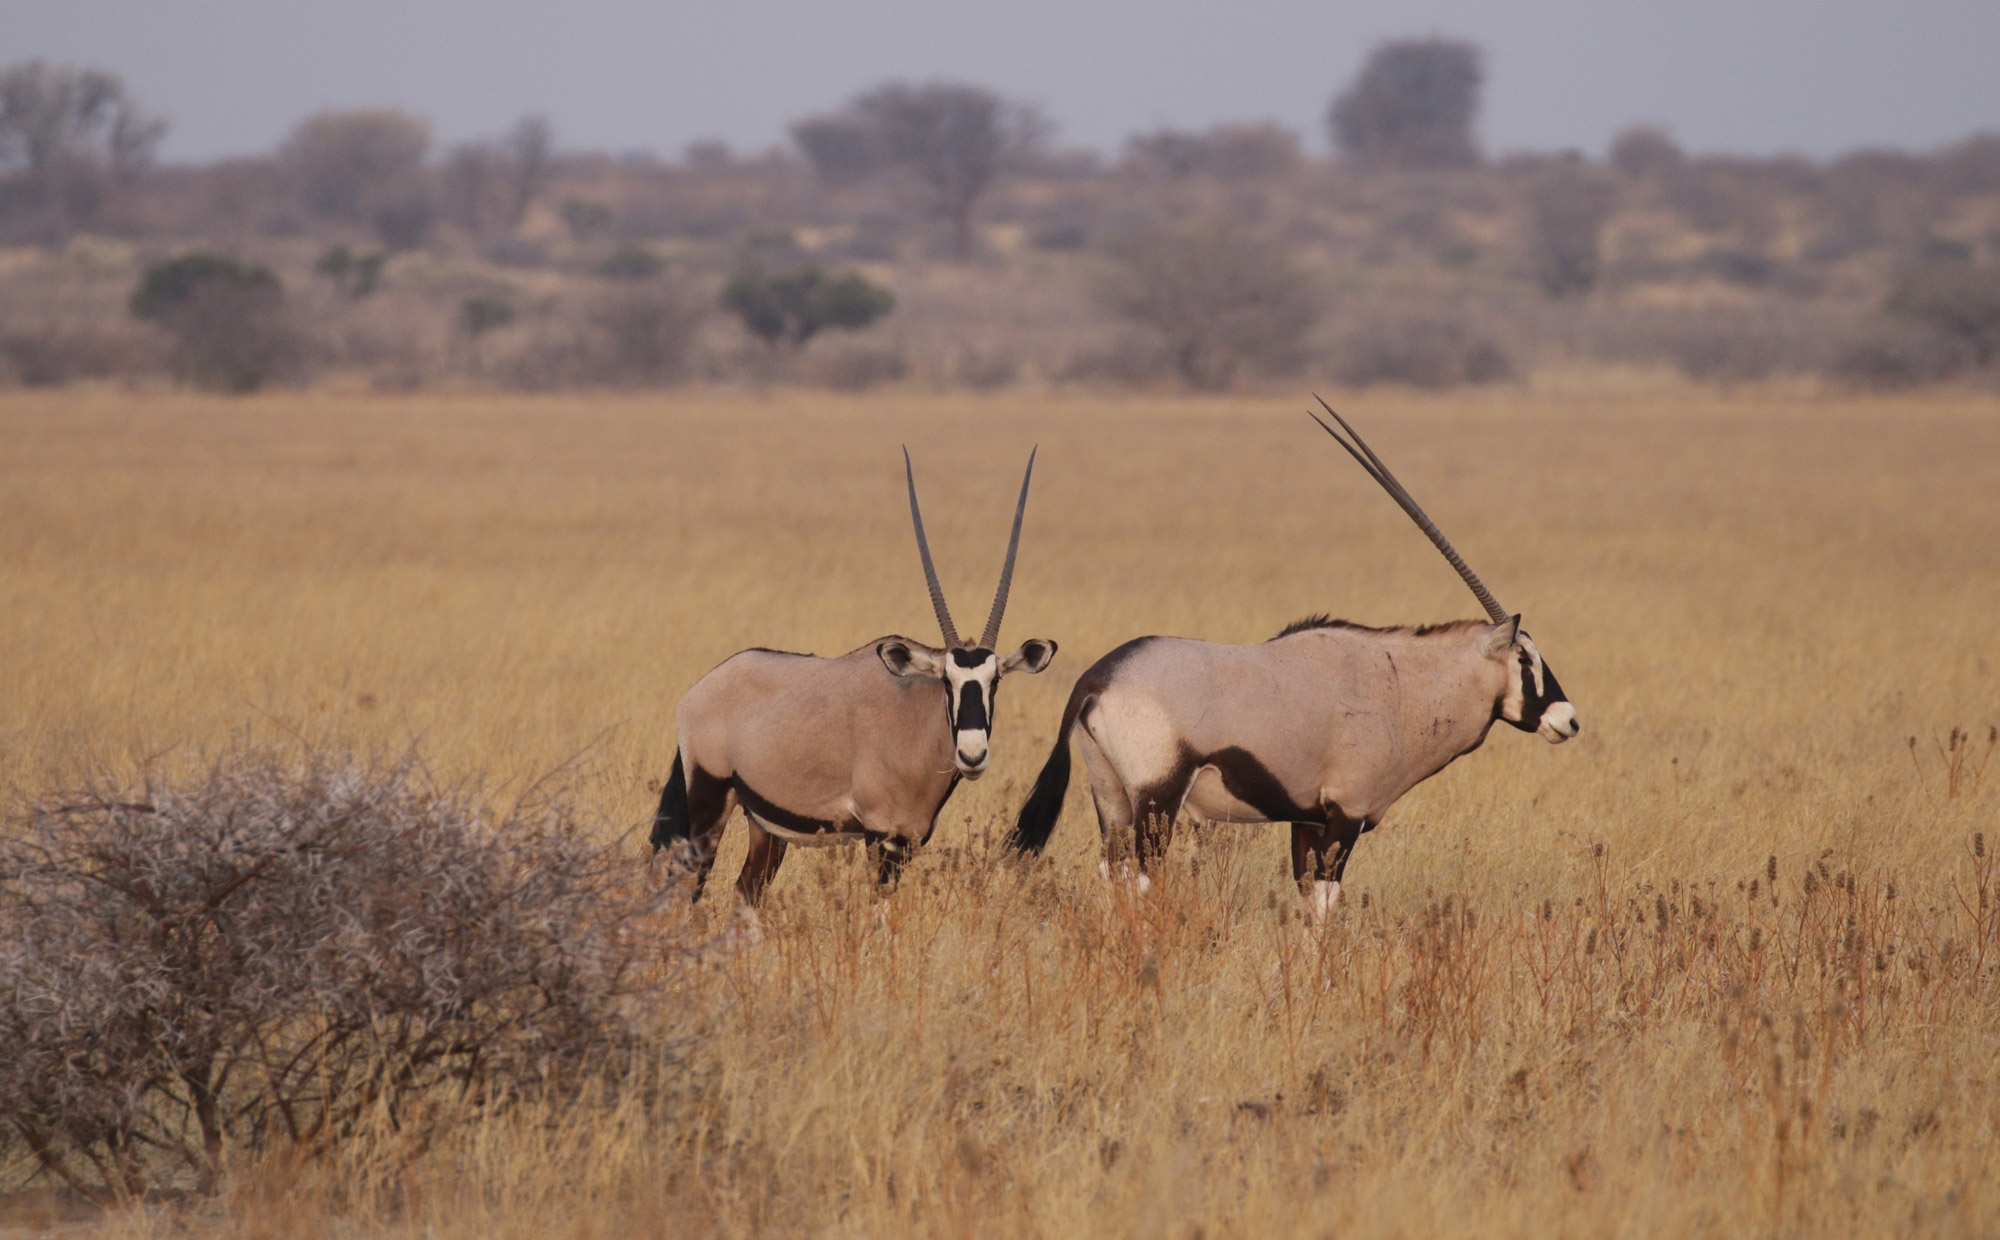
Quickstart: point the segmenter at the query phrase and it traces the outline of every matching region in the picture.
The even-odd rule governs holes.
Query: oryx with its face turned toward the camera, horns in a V
[[[1056,656],[1056,644],[1040,638],[994,654],[1034,452],[978,642],[958,636],[944,606],[908,448],[902,468],[944,646],[886,636],[840,658],[756,648],[694,682],[676,710],[674,772],[652,822],[654,850],[672,848],[672,860],[694,872],[694,898],[716,864],[732,806],[750,820],[750,856],[736,880],[744,902],[764,896],[786,844],[866,840],[878,854],[876,878],[892,886],[958,780],[986,774],[1000,676],[1040,672]]]

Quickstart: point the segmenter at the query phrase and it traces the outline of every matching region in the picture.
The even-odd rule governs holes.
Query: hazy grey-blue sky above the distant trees
[[[1486,50],[1490,152],[1602,152],[1634,122],[1820,156],[2000,130],[2000,0],[0,0],[0,62],[124,74],[174,160],[366,104],[444,142],[544,112],[564,146],[760,150],[886,78],[992,86],[1106,152],[1224,120],[1322,150],[1332,92],[1412,34]]]

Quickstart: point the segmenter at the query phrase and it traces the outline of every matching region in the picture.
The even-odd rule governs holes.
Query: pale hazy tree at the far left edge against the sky
[[[152,160],[166,122],[148,116],[116,74],[24,60],[0,70],[0,172],[62,244],[102,204],[108,186]]]

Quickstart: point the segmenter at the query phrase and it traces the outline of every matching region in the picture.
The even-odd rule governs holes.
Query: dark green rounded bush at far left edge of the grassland
[[[278,276],[226,254],[196,250],[146,268],[130,310],[172,332],[174,372],[198,388],[254,392],[296,362]]]

